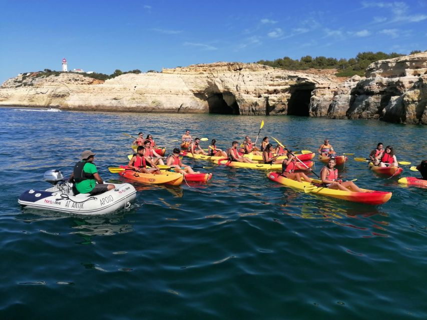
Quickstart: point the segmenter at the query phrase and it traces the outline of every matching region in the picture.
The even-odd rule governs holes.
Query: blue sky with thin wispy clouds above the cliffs
[[[0,0],[0,83],[289,56],[427,50],[427,0]]]

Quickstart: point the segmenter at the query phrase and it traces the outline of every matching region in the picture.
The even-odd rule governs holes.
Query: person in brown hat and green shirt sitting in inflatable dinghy
[[[80,193],[98,194],[116,187],[114,184],[103,183],[104,181],[93,163],[95,154],[91,150],[83,151],[80,161],[76,163],[73,173],[70,175],[70,182],[75,183],[76,189]]]

